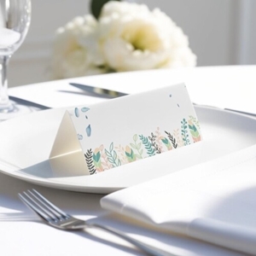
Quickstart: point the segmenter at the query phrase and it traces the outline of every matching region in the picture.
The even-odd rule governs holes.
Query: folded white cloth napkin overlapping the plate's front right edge
[[[256,254],[256,145],[106,195],[101,205],[163,230]]]

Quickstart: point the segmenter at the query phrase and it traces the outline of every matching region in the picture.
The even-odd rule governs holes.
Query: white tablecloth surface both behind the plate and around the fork
[[[51,108],[79,105],[85,100],[103,100],[86,96],[81,90],[68,85],[68,82],[102,86],[126,93],[184,82],[192,102],[256,113],[256,66],[195,67],[108,74],[20,86],[10,89],[9,94]],[[143,255],[129,243],[102,231],[67,232],[42,223],[17,196],[20,191],[32,188],[38,189],[49,200],[73,215],[124,230],[137,239],[154,243],[155,246],[177,255],[241,255],[188,237],[164,234],[131,219],[106,212],[100,207],[100,200],[104,195],[49,189],[0,173],[2,255]]]

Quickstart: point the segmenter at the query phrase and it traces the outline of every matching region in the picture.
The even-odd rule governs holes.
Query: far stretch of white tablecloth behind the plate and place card
[[[100,86],[136,93],[160,86],[185,83],[192,101],[218,108],[233,108],[256,113],[256,66],[195,67],[112,73],[11,88],[11,96],[20,96],[52,108],[101,102],[68,82]]]

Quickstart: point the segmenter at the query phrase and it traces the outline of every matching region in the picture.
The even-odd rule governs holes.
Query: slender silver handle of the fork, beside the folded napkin
[[[143,250],[143,252],[147,253],[148,255],[152,255],[152,256],[177,256],[174,255],[172,253],[168,253],[166,251],[161,250],[160,248],[157,247],[153,247],[150,246],[142,241],[137,241],[137,239],[132,238],[131,236],[127,236],[125,235],[125,233],[119,231],[119,230],[115,230],[111,227],[108,226],[103,226],[100,224],[86,224],[86,226],[88,227],[92,227],[92,228],[97,228],[100,230],[105,230],[115,236],[119,236],[120,238],[124,239],[125,241],[129,241],[132,245],[140,248],[141,250]]]

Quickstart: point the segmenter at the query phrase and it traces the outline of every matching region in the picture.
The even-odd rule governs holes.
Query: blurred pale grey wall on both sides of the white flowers
[[[130,2],[158,7],[182,27],[198,67],[256,64],[255,0]],[[9,63],[9,87],[48,81],[56,29],[89,12],[89,0],[33,1],[30,30]]]

